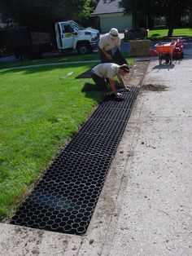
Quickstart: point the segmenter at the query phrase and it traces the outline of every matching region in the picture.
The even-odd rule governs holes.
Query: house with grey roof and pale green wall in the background
[[[109,0],[99,0],[94,10],[93,16],[98,16],[101,33],[108,32],[111,28],[116,28],[120,32],[132,27],[132,15],[124,15],[124,9],[119,7],[120,0],[110,2]]]

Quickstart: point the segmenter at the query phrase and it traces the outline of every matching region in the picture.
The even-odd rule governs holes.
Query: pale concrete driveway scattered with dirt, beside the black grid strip
[[[191,67],[151,60],[84,236],[0,223],[0,255],[192,255]]]

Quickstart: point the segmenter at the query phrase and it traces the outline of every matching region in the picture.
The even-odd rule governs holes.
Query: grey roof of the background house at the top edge
[[[120,0],[110,2],[109,0],[99,0],[97,7],[94,10],[94,15],[104,13],[123,12],[124,9],[119,7]]]

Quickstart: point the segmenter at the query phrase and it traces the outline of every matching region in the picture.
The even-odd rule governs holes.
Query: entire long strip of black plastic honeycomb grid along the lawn
[[[122,92],[124,101],[132,101],[124,104],[128,108],[112,100],[99,105],[51,163],[11,223],[53,232],[85,233],[138,90]]]

